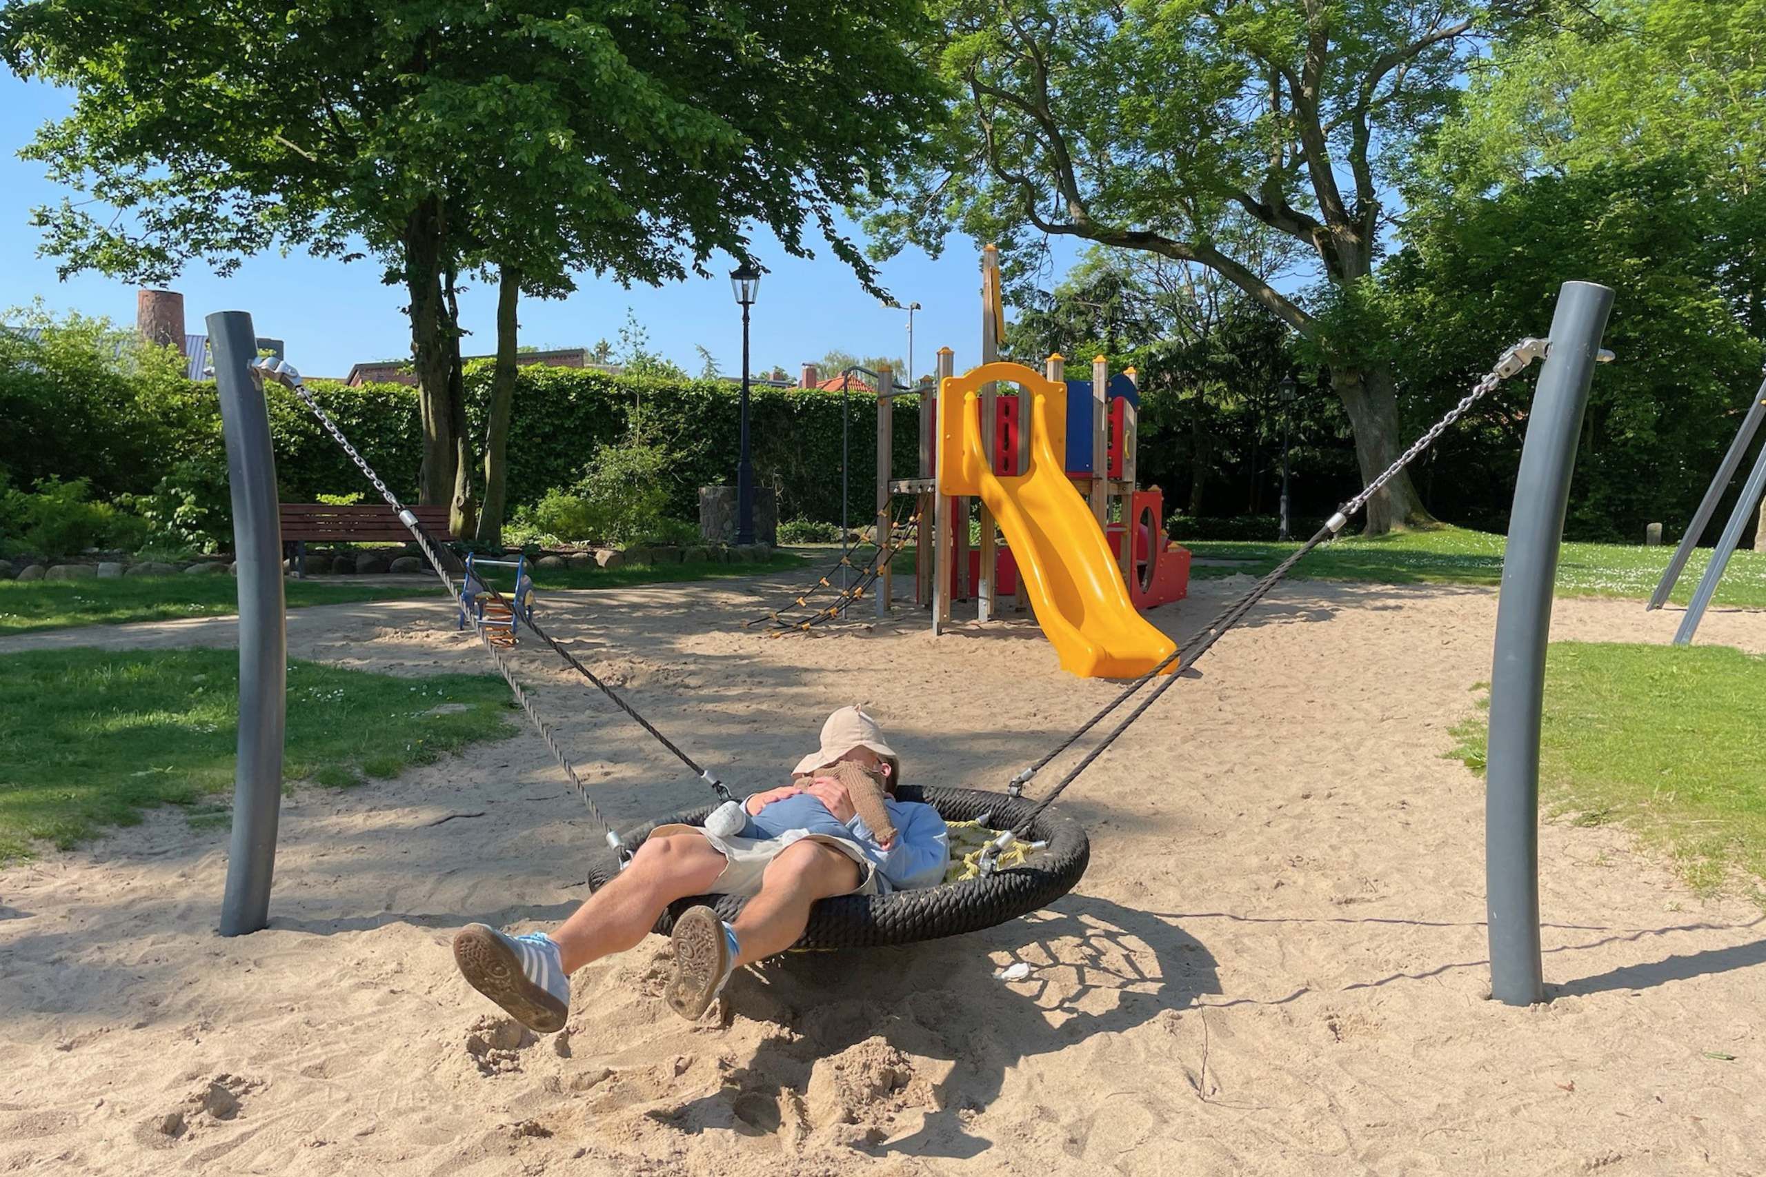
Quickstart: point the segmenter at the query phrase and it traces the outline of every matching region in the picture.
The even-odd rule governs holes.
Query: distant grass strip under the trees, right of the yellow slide
[[[1263,575],[1300,547],[1227,540],[1180,542],[1196,556],[1250,561],[1231,568],[1196,568],[1196,579],[1227,577],[1238,572]],[[1464,528],[1404,531],[1377,538],[1347,536],[1314,551],[1291,575],[1381,584],[1498,584],[1503,577],[1503,544],[1505,536]],[[1558,593],[1646,600],[1672,554],[1672,547],[1565,544],[1558,559]],[[1709,558],[1708,547],[1694,551],[1672,600],[1687,602],[1692,596]],[[1720,605],[1766,605],[1766,552],[1736,552],[1715,600]]]

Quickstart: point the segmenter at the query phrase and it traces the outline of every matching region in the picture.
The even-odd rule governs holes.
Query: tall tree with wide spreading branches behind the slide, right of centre
[[[1491,7],[938,0],[954,118],[872,219],[881,249],[938,249],[961,228],[1204,265],[1330,365],[1372,478],[1404,445],[1367,296],[1388,215],[1381,175],[1452,104]],[[1249,265],[1222,235],[1227,214],[1300,244],[1317,286],[1279,288]],[[1369,503],[1374,533],[1427,519],[1406,475]]]

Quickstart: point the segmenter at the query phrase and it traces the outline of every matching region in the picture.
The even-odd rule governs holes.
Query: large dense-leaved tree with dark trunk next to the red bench
[[[0,58],[76,90],[30,148],[120,210],[42,210],[64,272],[170,281],[268,247],[404,286],[422,499],[470,514],[456,275],[657,282],[807,226],[936,116],[915,0],[7,0]],[[203,30],[192,37],[191,30]],[[551,266],[535,259],[556,259]]]

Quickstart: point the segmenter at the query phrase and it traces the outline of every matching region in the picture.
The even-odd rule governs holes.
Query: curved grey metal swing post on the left
[[[238,762],[233,769],[233,838],[228,843],[221,935],[245,935],[270,921],[270,877],[283,801],[288,639],[283,614],[283,533],[275,517],[275,450],[263,388],[247,367],[258,335],[244,311],[208,316],[228,489],[233,494],[233,558],[238,561]]]

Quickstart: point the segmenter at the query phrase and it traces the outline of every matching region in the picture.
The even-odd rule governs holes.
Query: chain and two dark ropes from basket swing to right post
[[[1441,420],[1438,420],[1434,425],[1429,427],[1429,431],[1423,436],[1413,441],[1411,448],[1400,454],[1397,461],[1393,461],[1392,466],[1381,471],[1377,478],[1369,482],[1360,494],[1344,503],[1337,510],[1337,514],[1332,515],[1324,522],[1324,526],[1312,535],[1312,538],[1309,538],[1305,544],[1300,545],[1298,551],[1289,554],[1287,559],[1272,568],[1268,575],[1252,584],[1250,589],[1247,589],[1240,598],[1236,598],[1226,609],[1222,609],[1208,625],[1204,625],[1189,639],[1185,639],[1185,642],[1178,646],[1178,649],[1166,655],[1158,662],[1158,665],[1155,665],[1151,671],[1128,683],[1114,699],[1111,699],[1104,708],[1100,708],[1097,715],[1093,715],[1070,736],[1054,745],[1054,748],[1049,750],[1042,759],[1038,759],[1024,771],[1017,773],[1007,785],[1007,792],[1014,798],[1023,796],[1024,783],[1028,783],[1038,771],[1047,768],[1049,762],[1054,761],[1054,757],[1072,748],[1086,732],[1090,732],[1093,727],[1104,722],[1113,711],[1116,711],[1116,708],[1127,702],[1143,686],[1146,686],[1155,678],[1164,674],[1169,667],[1176,665],[1176,671],[1169,674],[1166,681],[1162,681],[1157,688],[1153,688],[1153,692],[1146,699],[1143,699],[1121,722],[1118,722],[1116,727],[1113,727],[1097,743],[1097,746],[1086,752],[1086,755],[1079,761],[1079,764],[1075,764],[1065,776],[1061,776],[1061,780],[1054,785],[1054,789],[1051,789],[1049,794],[1044,796],[1030,810],[1030,813],[1024,817],[1023,822],[1019,822],[1015,829],[1003,833],[987,843],[987,849],[984,851],[982,856],[984,865],[998,858],[998,854],[1005,851],[1008,845],[1012,845],[1012,842],[1017,840],[1017,836],[1021,836],[1023,831],[1028,831],[1030,824],[1037,819],[1037,815],[1042,813],[1045,808],[1049,808],[1049,805],[1053,805],[1054,799],[1061,796],[1061,792],[1065,792],[1067,787],[1074,783],[1074,780],[1077,780],[1079,775],[1084,773],[1091,766],[1091,762],[1097,761],[1104,753],[1104,750],[1116,741],[1118,736],[1128,731],[1128,727],[1137,718],[1141,718],[1146,713],[1146,709],[1158,701],[1160,695],[1171,690],[1171,686],[1183,676],[1183,672],[1189,671],[1192,665],[1196,665],[1196,662],[1204,653],[1208,653],[1208,649],[1211,649],[1213,644],[1227,633],[1227,630],[1236,626],[1245,618],[1245,614],[1257,605],[1257,602],[1268,596],[1270,589],[1273,589],[1277,582],[1280,582],[1282,577],[1286,577],[1293,570],[1294,565],[1298,565],[1309,552],[1312,552],[1312,549],[1319,547],[1328,540],[1333,540],[1337,533],[1342,531],[1342,528],[1349,522],[1349,519],[1356,515],[1363,506],[1367,506],[1369,499],[1379,494],[1379,491],[1388,482],[1392,482],[1392,478],[1395,478],[1400,469],[1415,462],[1423,450],[1434,445],[1436,439],[1446,431],[1446,427],[1457,422],[1460,416],[1464,416],[1473,404],[1476,404],[1485,395],[1494,392],[1505,379],[1521,374],[1535,360],[1543,358],[1547,346],[1549,341],[1545,339],[1528,337],[1505,349],[1503,355],[1496,360],[1496,367],[1485,372],[1483,378],[1478,379],[1478,383],[1473,385],[1464,397],[1460,397],[1459,404],[1450,408],[1446,415],[1441,416]]]

